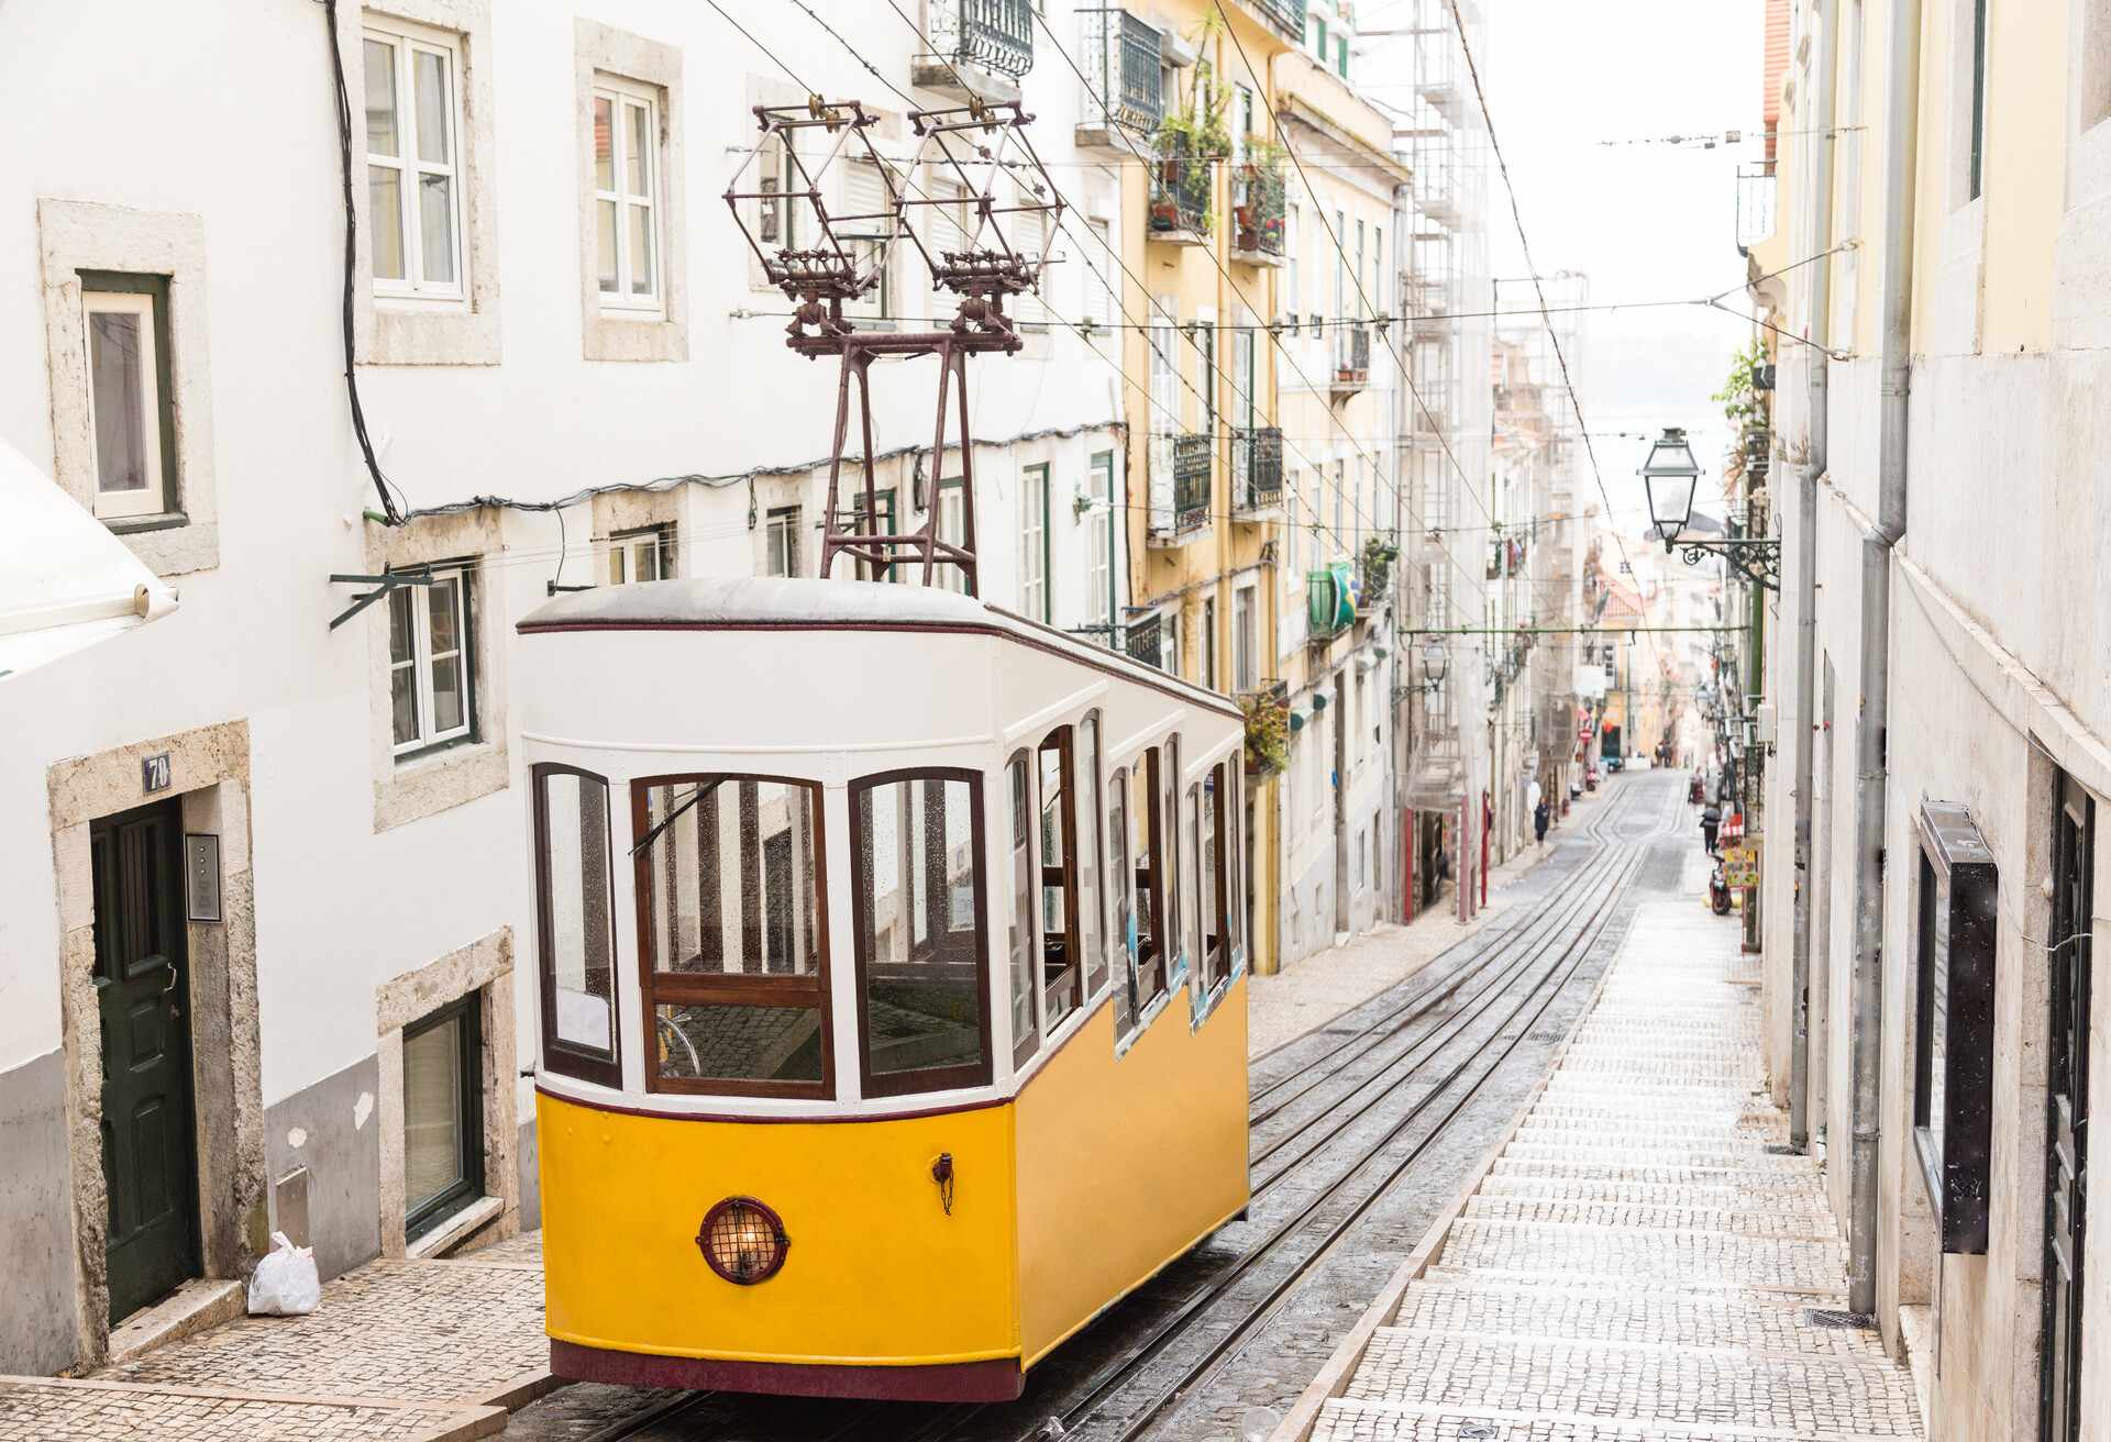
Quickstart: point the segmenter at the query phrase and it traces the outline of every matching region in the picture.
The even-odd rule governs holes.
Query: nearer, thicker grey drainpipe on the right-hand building
[[[1921,0],[1891,4],[1883,135],[1883,363],[1877,526],[1862,538],[1862,726],[1856,735],[1853,1172],[1847,1309],[1877,1311],[1877,1138],[1883,1079],[1885,726],[1891,711],[1891,547],[1906,534],[1906,395],[1913,380],[1913,205],[1921,108]]]

